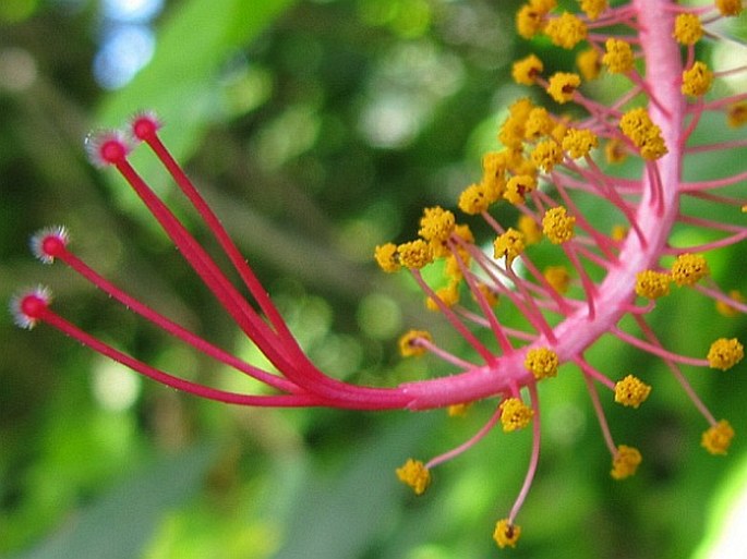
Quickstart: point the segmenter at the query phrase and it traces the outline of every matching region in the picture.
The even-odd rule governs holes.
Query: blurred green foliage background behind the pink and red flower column
[[[132,194],[85,158],[88,131],[153,108],[323,369],[374,385],[447,373],[433,361],[400,362],[398,335],[433,317],[408,278],[381,274],[371,254],[412,236],[423,205],[454,207],[478,178],[507,104],[528,94],[510,84],[514,59],[531,50],[551,70],[569,69],[567,53],[515,38],[517,5],[2,0],[0,299],[47,283],[59,312],[143,360],[254,388],[28,254],[33,232],[64,223],[105,275],[257,359]],[[135,159],[166,192],[147,154]],[[701,158],[688,172],[713,166]],[[746,257],[744,246],[709,256],[725,289],[745,288]],[[692,293],[662,306],[652,324],[688,354],[747,324]],[[48,328],[19,330],[8,314],[0,336],[2,557],[700,559],[715,557],[706,551],[747,488],[744,365],[686,369],[737,430],[730,455],[714,459],[699,447],[707,425],[663,364],[602,340],[591,352],[600,368],[654,386],[638,411],[606,405],[616,439],[639,447],[644,462],[635,478],[610,478],[583,382],[569,368],[541,387],[543,452],[518,519],[525,534],[516,550],[499,551],[493,524],[520,487],[529,433],[492,434],[439,466],[422,498],[394,475],[410,455],[469,438],[490,404],[458,420],[240,409],[141,381]]]

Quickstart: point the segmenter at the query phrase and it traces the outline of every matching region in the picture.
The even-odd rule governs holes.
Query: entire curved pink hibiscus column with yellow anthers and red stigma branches
[[[517,29],[522,37],[544,35],[559,48],[575,49],[578,57],[574,71],[547,76],[542,61],[531,54],[516,62],[514,80],[543,89],[550,99],[575,107],[581,116],[555,116],[528,98],[510,107],[498,130],[499,149],[485,155],[481,181],[466,187],[458,200],[468,219],[482,220],[492,230],[490,252],[475,241],[467,224],[457,222],[454,212],[437,206],[424,210],[415,240],[386,243],[375,250],[382,269],[408,270],[427,306],[471,348],[466,357],[439,347],[427,331],[411,330],[402,337],[405,356],[431,354],[456,369],[450,376],[374,388],[344,382],[320,370],[301,350],[218,217],[161,143],[160,123],[150,113],[135,116],[126,133],[92,136],[91,158],[98,166],[113,168],[130,185],[219,306],[278,373],[244,363],[117,288],[71,251],[64,228],[38,233],[33,250],[41,262],[62,262],[173,338],[267,385],[274,393],[222,391],[157,369],[58,315],[46,288],[13,301],[16,321],[27,328],[47,324],[164,385],[233,404],[419,411],[447,406],[463,410],[465,404],[490,400],[495,412],[472,438],[425,463],[409,460],[397,475],[422,494],[431,484],[431,469],[472,448],[498,423],[507,433],[531,423],[532,449],[525,482],[508,517],[497,522],[494,533],[498,546],[513,547],[521,533],[515,521],[540,458],[538,384],[552,382],[564,364],[575,365],[586,381],[610,449],[612,477],[632,475],[642,461],[636,448],[615,442],[598,388],[607,393],[609,401],[637,409],[655,385],[652,388],[634,375],[614,380],[589,363],[585,353],[604,335],[664,362],[708,424],[701,439],[707,451],[725,453],[734,436],[728,423],[718,421],[695,393],[680,367],[730,369],[744,357],[742,343],[722,338],[711,344],[707,355],[680,355],[663,347],[646,315],[673,289],[689,289],[712,299],[725,316],[747,311],[742,294],[722,292],[708,267],[708,253],[747,239],[747,198],[738,189],[747,171],[710,180],[684,178],[688,155],[728,150],[737,157],[737,150],[747,145],[744,139],[694,142],[694,133],[707,114],[724,113],[731,126],[747,123],[747,94],[712,94],[714,83],[726,76],[744,76],[747,68],[711,70],[696,60],[695,50],[703,37],[715,36],[711,32],[714,22],[740,11],[742,3],[734,0],[716,0],[712,7],[697,9],[672,0],[632,0],[617,8],[604,0],[582,0],[577,13],[561,13],[554,0],[530,0],[518,11]],[[604,80],[606,74],[627,77],[630,89],[603,105],[588,94],[586,84]],[[229,281],[132,167],[129,154],[137,144],[149,148],[170,173],[251,299]],[[616,165],[624,159],[637,160],[638,178],[617,171]],[[718,206],[723,219],[687,215],[685,199]],[[585,208],[594,207],[590,200],[621,223],[615,228],[600,224],[594,215],[585,212]],[[516,223],[498,222],[491,212],[498,204],[515,208]],[[716,239],[692,246],[674,245],[672,231],[679,224],[708,230]],[[532,255],[533,245],[539,243],[555,251],[564,265],[542,269]],[[674,262],[666,264],[673,256]],[[432,285],[421,272],[434,260],[444,263],[446,287]],[[525,321],[504,324],[496,311],[498,300],[501,305],[515,307]],[[637,331],[622,326],[626,316],[632,317]]]

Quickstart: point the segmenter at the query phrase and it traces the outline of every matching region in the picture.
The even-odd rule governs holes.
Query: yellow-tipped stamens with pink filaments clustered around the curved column
[[[610,8],[605,0],[579,0],[579,13],[558,14],[555,0],[530,0],[519,9],[516,17],[519,35],[527,39],[544,35],[561,48],[576,49],[577,72],[555,72],[544,77],[542,60],[535,54],[529,54],[514,64],[515,82],[529,86],[539,85],[556,104],[574,102],[587,116],[579,119],[565,114],[554,116],[529,98],[519,99],[509,107],[508,117],[497,134],[503,149],[484,156],[482,179],[465,189],[458,199],[458,207],[463,214],[481,216],[495,232],[493,260],[487,258],[482,248],[475,246],[468,226],[458,224],[453,212],[438,206],[425,209],[420,221],[419,239],[398,245],[387,243],[375,250],[375,258],[385,271],[393,272],[402,267],[412,271],[426,294],[429,308],[442,312],[485,359],[487,366],[497,361],[491,360],[482,342],[470,333],[463,323],[493,330],[501,349],[498,355],[510,357],[517,351],[523,352],[523,372],[529,376],[513,377],[506,381],[507,388],[498,392],[503,400],[496,413],[473,439],[427,463],[408,460],[397,470],[398,477],[420,495],[430,485],[430,470],[433,466],[471,447],[498,421],[506,433],[522,429],[534,422],[534,450],[530,472],[509,517],[496,523],[493,534],[499,547],[514,547],[519,539],[521,528],[514,520],[537,465],[539,408],[534,384],[555,376],[562,363],[574,362],[585,375],[612,453],[612,477],[624,479],[632,475],[642,460],[636,448],[612,442],[592,385],[593,381],[605,385],[614,392],[615,402],[634,409],[648,399],[651,386],[634,375],[627,375],[614,382],[586,362],[582,350],[576,350],[578,353],[575,354],[564,352],[555,336],[556,329],[545,319],[547,314],[556,313],[562,318],[582,314],[587,323],[568,321],[591,328],[594,320],[603,321],[599,316],[603,312],[600,301],[604,301],[603,304],[607,306],[618,305],[617,312],[604,311],[609,324],[604,330],[600,328],[600,333],[612,332],[623,341],[658,355],[665,362],[710,424],[701,439],[701,445],[708,452],[725,453],[734,436],[728,422],[715,421],[692,394],[678,364],[709,365],[711,368],[726,370],[744,357],[742,343],[736,339],[722,338],[711,344],[704,360],[683,357],[663,349],[643,321],[642,315],[654,307],[654,300],[671,293],[672,283],[678,288],[694,288],[712,296],[716,308],[724,316],[734,316],[747,309],[745,299],[737,290],[726,295],[712,283],[707,287],[701,284],[710,270],[706,258],[697,254],[743,241],[747,238],[745,228],[721,228],[718,223],[711,224],[704,220],[682,219],[676,209],[677,196],[682,195],[676,191],[676,181],[679,180],[683,168],[683,146],[706,107],[704,96],[719,76],[704,62],[694,59],[694,45],[707,34],[703,22],[710,22],[720,15],[739,14],[742,2],[716,0],[711,12],[709,9],[678,9],[671,0],[658,0],[648,5],[647,2],[634,1],[631,4]],[[653,13],[643,15],[642,12],[649,9]],[[619,28],[625,25],[628,25],[628,35],[602,33],[604,27]],[[654,25],[659,28],[655,32],[650,29],[647,34],[646,27]],[[656,61],[650,60],[646,49],[647,41],[654,41],[653,35],[661,34],[662,29],[668,32],[665,36],[656,37],[659,42],[650,47],[651,52],[665,48],[673,58],[671,64],[664,63],[663,68],[656,68]],[[639,35],[635,36],[635,33]],[[680,56],[683,47],[687,51],[686,61]],[[661,58],[662,52],[656,52],[655,56]],[[603,77],[605,72],[625,75],[632,83],[632,90],[612,107],[601,106],[581,92],[585,82]],[[655,73],[661,75],[652,75]],[[675,87],[662,85],[666,82],[675,84]],[[638,94],[649,97],[647,107],[640,104],[636,106]],[[689,129],[685,117],[688,113],[688,100],[697,107]],[[670,101],[676,102],[676,108],[664,106]],[[721,110],[726,114],[730,125],[740,126],[747,123],[747,95],[713,102],[706,110]],[[679,114],[673,116],[676,111]],[[662,125],[662,122],[665,124]],[[643,169],[640,182],[635,184],[603,172],[597,158],[592,157],[593,150],[601,145],[609,166],[629,156],[639,157]],[[728,147],[739,145],[744,144]],[[667,178],[675,182],[674,186],[670,186],[675,189],[675,195],[664,192],[666,185],[663,183]],[[735,184],[738,180],[701,184],[704,190]],[[549,194],[553,186],[557,197]],[[606,200],[627,223],[615,226],[609,233],[600,231],[599,226],[592,226],[577,204],[579,195],[589,193]],[[730,205],[740,206],[743,212],[747,208],[744,202],[736,198],[723,199]],[[504,228],[492,216],[490,209],[498,203],[508,204],[516,209],[518,219],[515,227]],[[665,236],[656,238],[656,221],[671,228],[677,219],[733,234],[721,244],[701,245],[699,251],[675,252],[667,245]],[[570,266],[546,266],[540,271],[527,251],[543,240],[557,245]],[[652,245],[656,243],[658,248],[654,250]],[[634,259],[640,266],[627,276],[621,276],[629,282],[629,296],[623,295],[619,301],[604,299],[600,292],[601,285],[614,284],[615,279],[607,277],[609,281],[605,282],[599,279],[599,275],[592,279],[589,266],[582,264],[582,259],[612,276],[613,268],[622,268],[623,262],[627,262],[625,256],[629,254],[625,252],[626,248],[636,252]],[[644,251],[649,251],[648,257],[638,258]],[[659,262],[670,254],[675,258],[668,269],[665,269]],[[447,281],[446,287],[441,289],[432,289],[420,274],[421,268],[434,260],[444,260],[443,269]],[[517,262],[527,277],[517,271]],[[574,271],[573,275],[569,269]],[[580,297],[566,296],[571,288],[580,292]],[[477,304],[482,316],[460,304],[462,291],[471,292],[471,304]],[[630,303],[634,293],[649,300],[649,304],[643,307],[634,306]],[[531,324],[533,331],[509,329],[499,324],[493,312],[498,296],[507,299],[516,306]],[[635,318],[643,340],[617,326],[625,314]],[[563,332],[566,337],[574,335],[570,328]],[[513,345],[514,339],[519,341],[519,348]],[[590,337],[587,345],[593,343],[594,339]],[[405,335],[400,340],[400,349],[406,356],[431,352],[458,367],[469,369],[472,366],[436,347],[431,335],[422,330],[412,330]],[[502,370],[498,368],[495,374],[501,375]],[[530,404],[525,403],[521,398],[521,386],[529,389]],[[461,415],[467,405],[453,405],[449,414]]]

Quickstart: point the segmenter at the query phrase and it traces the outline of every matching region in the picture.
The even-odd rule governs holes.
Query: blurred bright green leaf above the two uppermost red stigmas
[[[216,80],[227,58],[293,1],[182,3],[160,28],[150,63],[126,87],[104,98],[97,125],[120,126],[134,111],[155,110],[169,124],[164,131],[169,149],[184,160],[200,144],[206,124],[219,116]]]

